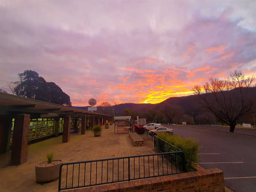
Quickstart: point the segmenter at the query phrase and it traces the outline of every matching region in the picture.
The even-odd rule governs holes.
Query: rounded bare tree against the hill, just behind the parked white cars
[[[163,114],[169,121],[169,124],[171,124],[174,119],[180,119],[184,112],[183,108],[176,104],[164,104],[161,111],[163,111]]]

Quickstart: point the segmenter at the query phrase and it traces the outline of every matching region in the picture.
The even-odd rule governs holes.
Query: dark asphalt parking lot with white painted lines
[[[233,191],[256,191],[256,137],[198,129],[209,127],[201,125],[164,126],[174,129],[176,135],[199,140],[199,165],[223,170],[225,185]]]

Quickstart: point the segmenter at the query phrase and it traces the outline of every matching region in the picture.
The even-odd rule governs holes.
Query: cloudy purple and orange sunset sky
[[[256,74],[256,1],[0,1],[0,88],[33,70],[73,106],[159,103]]]

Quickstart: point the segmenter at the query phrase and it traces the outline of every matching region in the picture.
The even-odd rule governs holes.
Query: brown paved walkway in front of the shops
[[[23,166],[8,166],[0,169],[1,191],[57,191],[58,181],[45,184],[37,184],[35,180],[35,165],[42,161],[46,161],[46,154],[48,152],[53,152],[54,159],[61,159],[64,163],[159,153],[159,151],[154,149],[153,142],[149,138],[142,136],[145,140],[144,146],[135,147],[131,144],[128,134],[114,134],[113,129],[113,126],[111,126],[109,129],[103,129],[102,135],[100,137],[94,137],[91,131],[87,131],[85,135],[71,134],[69,143],[61,143],[62,136],[59,136],[29,145],[29,159],[31,160],[30,163]],[[5,156],[8,155],[5,154]],[[0,159],[2,157],[4,156],[1,155]],[[149,161],[152,162],[153,160],[150,159]],[[140,158],[140,163],[142,162],[143,159]],[[160,156],[159,162],[159,167],[161,167],[162,164]],[[115,161],[114,163],[116,164],[118,162]],[[119,163],[122,165],[121,161]],[[124,163],[126,162],[124,161]],[[111,164],[112,162],[109,162],[109,169],[112,168]],[[137,164],[138,159],[135,159],[135,166]],[[119,166],[120,168],[121,165]],[[81,164],[81,172],[82,166],[84,165]],[[98,166],[98,168],[101,169],[101,165]],[[143,166],[143,164],[141,164],[141,166]],[[103,169],[105,167],[106,162],[104,162],[103,164]],[[169,169],[170,167],[171,166],[169,165]],[[114,170],[114,172],[115,171],[116,170]],[[146,172],[147,171],[148,169],[146,169]],[[164,171],[167,170],[164,169]],[[65,172],[65,168],[63,172]],[[153,169],[150,168],[150,174],[152,172]],[[126,173],[127,172],[125,172],[125,174]],[[140,172],[140,174],[142,174],[142,172]],[[119,176],[120,175],[123,175],[123,172],[119,172]],[[87,173],[86,176],[88,176]],[[138,176],[139,173],[136,169],[135,177]],[[98,181],[101,180],[101,178],[98,179]],[[112,175],[108,179],[112,180]],[[114,179],[116,179],[116,176],[114,177]],[[105,180],[106,177],[103,177],[103,182]],[[63,180],[63,182],[65,182],[65,180]]]

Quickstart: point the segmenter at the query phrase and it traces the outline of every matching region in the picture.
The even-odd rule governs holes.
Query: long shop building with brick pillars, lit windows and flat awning
[[[10,164],[23,164],[28,161],[29,144],[59,135],[66,143],[71,133],[85,134],[89,127],[111,118],[0,92],[0,154],[11,150]]]

